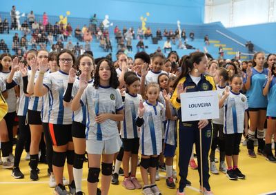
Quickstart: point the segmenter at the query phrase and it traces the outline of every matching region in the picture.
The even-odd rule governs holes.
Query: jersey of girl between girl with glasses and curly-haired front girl
[[[93,80],[88,81],[88,85],[93,85]],[[79,90],[79,77],[75,80],[72,88],[72,98],[75,97],[77,94],[77,91]],[[86,106],[81,106],[79,110],[73,112],[72,115],[72,121],[82,123],[83,125],[86,125]]]

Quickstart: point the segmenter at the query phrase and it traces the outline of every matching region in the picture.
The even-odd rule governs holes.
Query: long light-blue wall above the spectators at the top
[[[75,2],[75,3],[71,3]],[[77,2],[77,3],[76,3]],[[99,19],[106,14],[112,19],[123,21],[140,21],[140,17],[147,17],[148,22],[154,23],[203,23],[204,0],[0,0],[0,12],[9,12],[16,6],[20,12],[34,14],[65,15],[70,11],[71,17],[88,18],[96,13]]]

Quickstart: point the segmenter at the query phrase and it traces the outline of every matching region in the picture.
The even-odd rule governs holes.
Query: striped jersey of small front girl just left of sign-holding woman
[[[157,101],[156,105],[144,102],[144,123],[140,131],[140,152],[142,155],[159,155],[162,152],[161,125],[166,121],[165,107]]]

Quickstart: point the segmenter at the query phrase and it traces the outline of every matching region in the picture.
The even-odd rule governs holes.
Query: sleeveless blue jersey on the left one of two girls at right
[[[266,82],[267,75],[267,69],[258,72],[255,68],[252,68],[251,85],[246,92],[248,107],[267,107],[268,101],[266,96],[263,95],[263,85]]]

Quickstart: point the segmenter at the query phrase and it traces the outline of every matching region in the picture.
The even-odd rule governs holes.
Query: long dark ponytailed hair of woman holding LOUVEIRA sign
[[[199,62],[202,60],[202,57],[204,56],[204,52],[193,52],[190,55],[181,58],[181,74],[179,74],[173,85],[174,89],[177,87],[179,80],[182,79],[182,77],[187,76],[188,72],[193,70],[194,63],[199,64]]]

